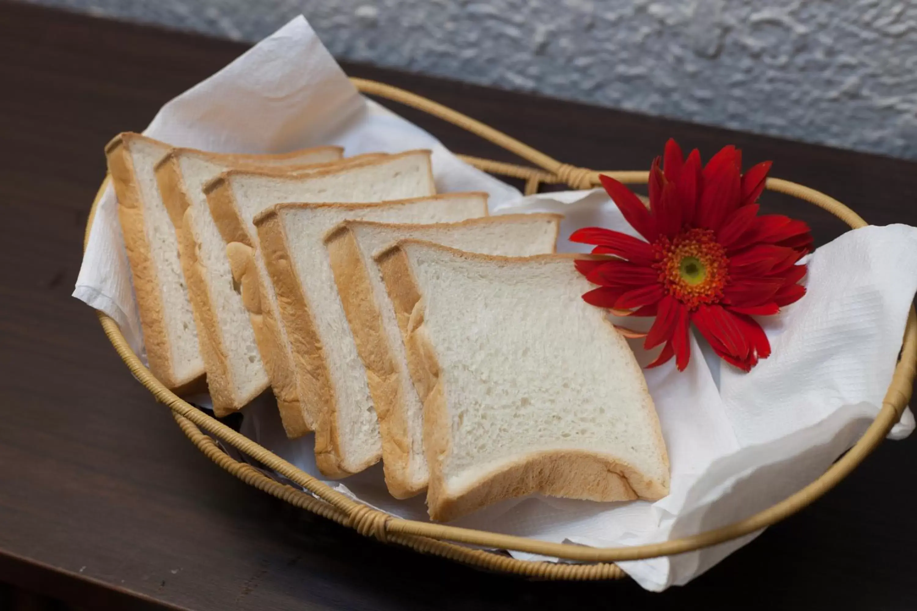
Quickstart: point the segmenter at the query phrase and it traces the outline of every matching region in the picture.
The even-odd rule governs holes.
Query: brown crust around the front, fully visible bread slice
[[[397,313],[408,356],[408,369],[414,387],[424,403],[424,444],[430,468],[426,502],[430,518],[447,521],[507,498],[536,492],[548,496],[596,501],[633,500],[637,497],[656,500],[668,495],[668,475],[664,482],[654,481],[637,471],[631,464],[613,455],[571,450],[521,456],[500,464],[464,489],[448,490],[442,471],[442,464],[451,452],[452,443],[449,435],[451,422],[447,411],[446,389],[436,360],[436,347],[430,342],[424,326],[423,294],[404,252],[404,246],[410,244],[425,245],[464,258],[485,261],[528,261],[537,258],[602,260],[608,257],[577,254],[536,255],[525,258],[479,255],[419,240],[402,240],[376,257]],[[603,320],[607,322],[607,319]],[[612,323],[607,323],[611,335],[624,342],[614,330]],[[668,474],[668,453],[656,411],[652,407],[652,399],[649,398],[646,388],[646,379],[635,362],[634,366],[635,374],[642,380],[647,399],[645,405],[652,409],[654,417],[651,421],[657,438],[657,449],[666,464]]]

